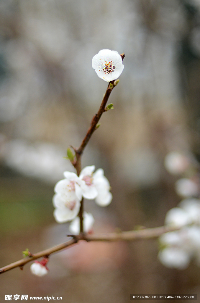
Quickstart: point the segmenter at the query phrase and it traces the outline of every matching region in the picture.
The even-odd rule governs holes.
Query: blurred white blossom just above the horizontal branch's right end
[[[173,227],[183,227],[192,223],[188,213],[179,207],[171,208],[165,216],[165,224]]]

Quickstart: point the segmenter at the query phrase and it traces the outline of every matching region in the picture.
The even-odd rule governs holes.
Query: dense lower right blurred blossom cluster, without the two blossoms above
[[[169,268],[185,269],[191,258],[200,261],[200,200],[182,200],[166,213],[165,224],[180,228],[159,238],[160,262]]]

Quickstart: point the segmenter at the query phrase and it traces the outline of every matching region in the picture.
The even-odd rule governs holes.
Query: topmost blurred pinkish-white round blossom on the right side
[[[177,151],[169,152],[164,158],[166,170],[173,175],[183,173],[189,166],[189,160]]]

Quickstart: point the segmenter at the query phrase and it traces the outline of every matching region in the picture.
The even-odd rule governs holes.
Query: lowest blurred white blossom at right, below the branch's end
[[[164,266],[169,268],[185,269],[190,262],[190,255],[177,247],[166,247],[160,250],[158,258]]]

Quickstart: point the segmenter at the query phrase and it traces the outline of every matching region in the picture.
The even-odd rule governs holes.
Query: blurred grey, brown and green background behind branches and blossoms
[[[124,71],[82,167],[104,169],[113,201],[106,208],[86,201],[85,210],[95,232],[163,225],[181,200],[165,155],[200,160],[200,1],[1,0],[0,15],[0,266],[26,248],[66,241],[69,224],[53,218],[53,187],[74,171],[66,149],[80,145],[105,93],[92,69],[101,49],[124,52]],[[195,261],[179,271],[157,254],[157,240],[83,242],[52,255],[42,278],[30,265],[0,275],[0,298],[124,303],[130,294],[200,295]]]

